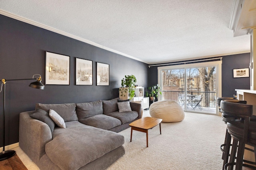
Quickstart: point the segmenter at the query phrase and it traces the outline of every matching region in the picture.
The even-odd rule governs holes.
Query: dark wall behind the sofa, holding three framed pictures
[[[116,98],[121,79],[130,74],[136,76],[139,86],[147,86],[148,64],[0,15],[1,80],[41,74],[45,84],[46,51],[70,56],[70,85],[45,85],[45,90],[38,90],[28,86],[34,80],[7,82],[6,145],[18,142],[19,114],[34,110],[36,103],[80,103]],[[93,61],[92,86],[75,85],[76,57]],[[109,86],[96,86],[96,62],[110,65]],[[0,93],[0,139],[3,134],[2,96],[3,92]],[[2,145],[0,140],[0,147]]]

